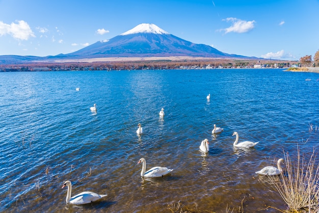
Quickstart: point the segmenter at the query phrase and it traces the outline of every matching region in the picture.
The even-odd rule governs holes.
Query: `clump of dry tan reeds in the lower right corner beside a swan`
[[[298,148],[297,161],[291,160],[289,153],[284,153],[286,172],[269,177],[269,183],[279,192],[288,205],[287,211],[310,213],[318,209],[319,167],[316,163],[315,150],[308,159],[300,154]]]

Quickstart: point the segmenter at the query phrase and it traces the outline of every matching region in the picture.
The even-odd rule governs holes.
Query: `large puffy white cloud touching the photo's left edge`
[[[36,37],[27,22],[18,20],[18,23],[8,25],[0,21],[0,36],[9,34],[18,40],[28,40],[30,37]]]

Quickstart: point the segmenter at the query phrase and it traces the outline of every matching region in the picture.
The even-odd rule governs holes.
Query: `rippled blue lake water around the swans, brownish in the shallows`
[[[80,87],[79,91],[75,88]],[[210,93],[210,100],[206,96]],[[0,73],[1,212],[245,212],[286,205],[256,171],[318,148],[319,74],[282,69]],[[97,112],[90,107],[96,103]],[[159,117],[161,108],[165,116]],[[144,134],[137,135],[138,124]],[[216,124],[224,128],[212,135]],[[313,131],[309,131],[310,125]],[[259,141],[249,151],[233,148]],[[203,139],[210,151],[199,151]],[[168,167],[164,178],[140,176]],[[82,206],[72,195],[108,194]]]

